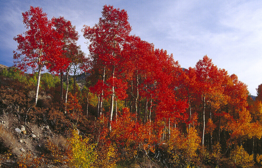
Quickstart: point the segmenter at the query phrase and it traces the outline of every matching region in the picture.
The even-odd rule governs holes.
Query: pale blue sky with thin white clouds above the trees
[[[0,1],[0,64],[13,65],[14,36],[26,31],[22,12],[41,7],[48,19],[64,16],[80,34],[78,45],[88,54],[83,25],[94,26],[103,5],[125,9],[132,35],[173,53],[181,67],[194,67],[207,55],[218,68],[236,74],[256,96],[262,83],[262,1]]]

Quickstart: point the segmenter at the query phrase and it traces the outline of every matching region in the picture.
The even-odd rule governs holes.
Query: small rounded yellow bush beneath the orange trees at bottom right
[[[242,167],[252,167],[253,166],[253,154],[249,155],[242,146],[237,146],[234,151],[231,153],[232,160],[238,166]]]

